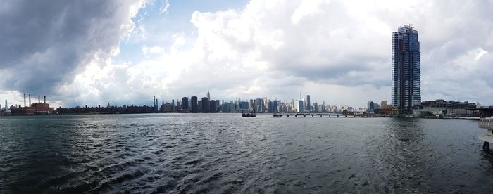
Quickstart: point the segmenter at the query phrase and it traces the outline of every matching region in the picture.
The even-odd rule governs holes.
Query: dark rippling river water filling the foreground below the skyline
[[[0,193],[493,193],[485,133],[442,119],[0,117]]]

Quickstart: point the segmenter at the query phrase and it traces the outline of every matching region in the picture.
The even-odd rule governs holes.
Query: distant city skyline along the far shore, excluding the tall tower
[[[407,26],[408,27],[408,26]],[[28,96],[28,97],[27,97]],[[35,97],[33,95],[33,97]],[[157,96],[159,98],[159,96]],[[43,103],[41,103],[41,96],[38,95],[38,102],[32,103],[31,94],[24,94],[24,104],[15,104],[11,106],[5,105],[4,108],[0,106],[0,115],[46,115],[46,114],[129,114],[129,113],[216,113],[216,112],[258,112],[258,113],[337,113],[337,114],[350,114],[350,115],[363,115],[363,114],[377,114],[377,115],[392,115],[394,113],[401,112],[397,106],[392,106],[387,103],[386,100],[382,100],[379,103],[368,101],[366,107],[355,107],[352,105],[337,105],[331,103],[311,103],[310,94],[306,94],[306,98],[302,92],[299,93],[299,99],[292,101],[286,101],[282,99],[270,99],[266,95],[263,98],[243,99],[240,98],[233,101],[214,100],[211,98],[209,89],[207,89],[206,97],[202,97],[201,101],[197,101],[196,96],[191,96],[190,100],[187,97],[180,99],[171,99],[166,101],[164,98],[161,100],[161,105],[158,104],[158,98],[153,96],[153,105],[136,105],[124,104],[115,105],[108,102],[104,105],[77,105],[74,107],[59,107],[50,108],[49,103],[46,103],[46,96],[43,96]],[[29,100],[29,101],[27,101]],[[29,103],[27,103],[29,102]],[[35,101],[33,101],[35,102]],[[221,103],[222,102],[222,103]],[[422,104],[423,103],[423,104]],[[6,101],[7,104],[7,101]],[[442,112],[449,112],[450,115],[460,116],[477,116],[478,111],[469,110],[477,108],[491,108],[491,106],[482,106],[480,103],[468,102],[468,101],[445,101],[443,99],[435,99],[433,101],[420,102],[418,106],[414,106],[411,110],[405,112],[408,115],[414,117],[422,117],[423,114],[439,115]],[[346,112],[344,112],[346,111]],[[425,112],[425,113],[423,113]],[[2,114],[3,113],[3,114]],[[401,112],[404,113],[404,112]]]

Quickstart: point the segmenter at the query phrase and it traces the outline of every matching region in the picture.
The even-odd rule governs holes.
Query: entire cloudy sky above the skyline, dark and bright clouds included
[[[0,100],[390,101],[392,32],[419,32],[424,100],[493,105],[493,1],[4,1]],[[33,100],[34,101],[34,100]]]

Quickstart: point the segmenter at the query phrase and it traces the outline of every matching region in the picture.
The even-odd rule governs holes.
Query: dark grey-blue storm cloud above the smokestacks
[[[118,46],[126,1],[4,1],[0,3],[0,85],[21,93],[56,92],[96,52]]]

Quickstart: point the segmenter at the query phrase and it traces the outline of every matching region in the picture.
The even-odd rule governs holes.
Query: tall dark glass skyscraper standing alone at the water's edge
[[[411,112],[421,104],[420,46],[412,25],[392,33],[392,109]]]

